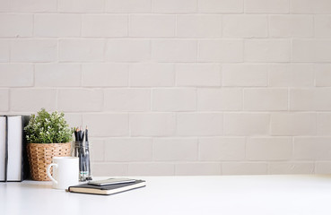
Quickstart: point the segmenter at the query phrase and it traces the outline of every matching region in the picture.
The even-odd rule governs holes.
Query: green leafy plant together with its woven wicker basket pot
[[[32,114],[24,127],[30,176],[33,180],[49,181],[46,169],[53,157],[70,156],[73,131],[65,121],[65,114],[48,113],[42,108],[37,116]]]

